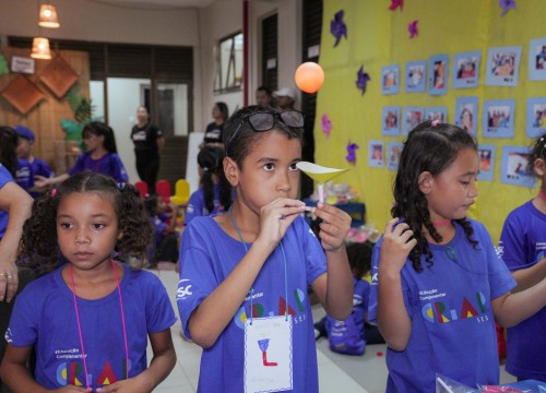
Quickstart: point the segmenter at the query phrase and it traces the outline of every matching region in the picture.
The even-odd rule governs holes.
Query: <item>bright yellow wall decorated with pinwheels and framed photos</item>
[[[500,182],[500,164],[503,145],[529,146],[526,136],[526,100],[546,96],[546,81],[529,81],[527,57],[530,40],[546,37],[544,0],[517,1],[517,10],[500,16],[498,0],[418,0],[404,1],[403,10],[389,11],[390,1],[324,0],[320,64],[324,69],[324,85],[317,99],[314,128],[316,162],[331,167],[347,167],[345,146],[351,140],[359,145],[357,163],[353,170],[334,182],[347,182],[358,190],[367,206],[367,223],[382,229],[390,218],[392,180],[394,171],[368,166],[368,141],[403,141],[405,136],[382,136],[381,114],[384,106],[400,106],[401,122],[405,106],[446,106],[448,121],[454,122],[455,98],[478,97],[478,143],[495,144],[494,181],[479,182],[479,198],[473,217],[489,229],[498,241],[507,214],[536,194],[536,189]],[[333,47],[330,22],[344,10],[347,39]],[[418,20],[418,36],[410,39],[407,25]],[[485,67],[488,48],[521,46],[522,56],[517,87],[486,86]],[[453,55],[480,50],[479,86],[452,88],[451,68]],[[427,61],[434,55],[449,55],[448,93],[431,96],[425,93],[405,93],[405,64],[408,61]],[[381,67],[400,63],[400,94],[381,94]],[[371,81],[364,96],[356,88],[357,71],[364,64]],[[428,87],[428,84],[427,84]],[[484,100],[514,99],[514,139],[482,138],[482,110]],[[320,118],[327,112],[333,129],[327,139]]]

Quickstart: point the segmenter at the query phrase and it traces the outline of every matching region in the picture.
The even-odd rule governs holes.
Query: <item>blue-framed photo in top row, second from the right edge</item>
[[[487,55],[485,84],[517,86],[521,47],[490,48]]]

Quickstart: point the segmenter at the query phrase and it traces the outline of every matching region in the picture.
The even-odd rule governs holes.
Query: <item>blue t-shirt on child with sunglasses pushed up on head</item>
[[[293,318],[293,392],[318,392],[317,347],[307,287],[325,273],[325,255],[302,217],[286,231],[288,299],[285,295],[284,258],[277,247],[252,284],[254,317],[283,315],[288,305]],[[250,248],[252,245],[247,243]],[[185,334],[199,305],[232,273],[245,257],[244,245],[228,236],[211,216],[197,217],[182,233],[177,303]],[[203,350],[198,392],[244,392],[244,321],[250,314],[247,298],[216,343]]]

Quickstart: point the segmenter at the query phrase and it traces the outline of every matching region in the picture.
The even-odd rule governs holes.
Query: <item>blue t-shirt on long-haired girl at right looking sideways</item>
[[[447,245],[429,245],[434,266],[417,273],[407,260],[402,294],[412,333],[402,352],[387,349],[387,392],[435,392],[436,373],[468,386],[499,383],[499,357],[491,300],[515,286],[483,224],[470,219],[476,249],[455,223]],[[372,254],[369,320],[376,320],[379,251]],[[381,277],[379,277],[381,279]]]

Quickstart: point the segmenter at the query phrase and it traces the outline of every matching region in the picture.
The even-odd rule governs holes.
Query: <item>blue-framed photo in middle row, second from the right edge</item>
[[[514,110],[513,99],[484,102],[484,138],[513,138]]]

